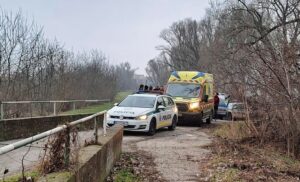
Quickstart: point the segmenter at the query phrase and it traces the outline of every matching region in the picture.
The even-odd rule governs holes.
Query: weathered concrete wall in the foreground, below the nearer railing
[[[38,182],[102,182],[106,179],[122,151],[123,127],[114,126],[106,136],[99,136],[101,145],[90,145],[79,151],[78,170],[46,175]]]

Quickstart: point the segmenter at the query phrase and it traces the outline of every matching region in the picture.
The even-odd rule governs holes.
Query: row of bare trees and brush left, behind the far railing
[[[136,87],[134,72],[97,50],[66,50],[20,12],[0,12],[0,101],[111,99]]]

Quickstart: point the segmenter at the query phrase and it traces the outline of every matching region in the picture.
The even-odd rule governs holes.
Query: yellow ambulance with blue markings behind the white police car
[[[210,123],[214,114],[213,75],[199,71],[174,71],[168,80],[166,94],[178,108],[180,122],[195,121],[199,126]]]

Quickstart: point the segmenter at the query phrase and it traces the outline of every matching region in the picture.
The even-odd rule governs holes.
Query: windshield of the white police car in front
[[[152,108],[154,107],[154,104],[155,104],[155,97],[128,96],[118,106]]]

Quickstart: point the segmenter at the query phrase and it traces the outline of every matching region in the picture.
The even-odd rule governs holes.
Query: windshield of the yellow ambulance
[[[199,97],[200,85],[186,84],[186,83],[172,83],[168,84],[167,94],[173,97]]]

